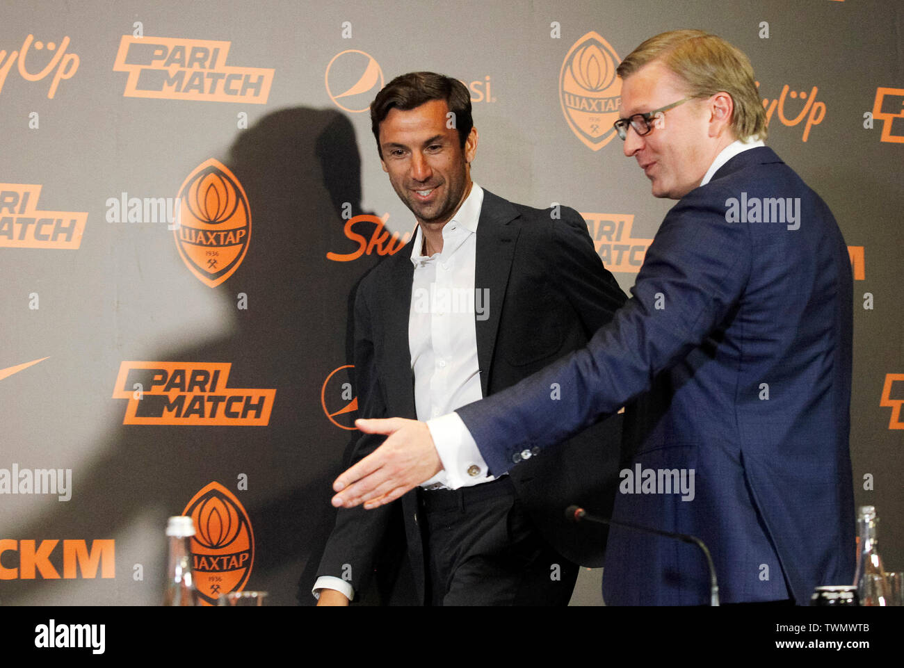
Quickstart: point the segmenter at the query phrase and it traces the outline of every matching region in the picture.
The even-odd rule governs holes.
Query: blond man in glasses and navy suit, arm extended
[[[852,276],[841,231],[763,146],[752,68],[728,42],[663,33],[618,75],[625,155],[655,196],[678,200],[632,298],[586,348],[510,390],[428,425],[364,422],[392,436],[337,479],[334,504],[375,507],[433,475],[443,466],[434,441],[474,444],[496,475],[636,399],[616,518],[700,537],[723,602],[805,605],[815,586],[853,575]],[[460,475],[447,470],[453,484]],[[676,492],[678,480],[692,489]],[[691,546],[610,532],[607,603],[707,595]]]

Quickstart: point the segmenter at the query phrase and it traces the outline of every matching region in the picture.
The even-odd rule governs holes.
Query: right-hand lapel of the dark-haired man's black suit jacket
[[[480,389],[485,397],[488,395],[505,288],[512,270],[515,244],[521,232],[521,227],[512,223],[517,217],[518,212],[511,202],[484,190],[484,203],[477,223],[474,287],[481,291],[482,296],[488,297],[483,302],[488,317],[485,320],[475,319]]]

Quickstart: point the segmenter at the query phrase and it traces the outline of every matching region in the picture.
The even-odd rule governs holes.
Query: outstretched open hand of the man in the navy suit
[[[365,434],[389,437],[370,455],[339,475],[333,483],[333,505],[371,510],[398,499],[437,475],[443,464],[424,422],[416,419],[356,419]]]

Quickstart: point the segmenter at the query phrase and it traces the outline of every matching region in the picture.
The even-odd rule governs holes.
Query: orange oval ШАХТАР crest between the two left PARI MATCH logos
[[[251,239],[251,211],[241,183],[211,158],[188,175],[179,190],[173,235],[185,266],[208,287],[239,268]]]

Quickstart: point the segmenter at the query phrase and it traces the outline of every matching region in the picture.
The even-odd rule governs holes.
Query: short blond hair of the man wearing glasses
[[[726,92],[734,102],[731,131],[738,139],[766,139],[766,110],[759,99],[753,66],[743,52],[702,30],[657,34],[629,53],[618,66],[622,79],[660,60],[690,89],[693,98]]]

